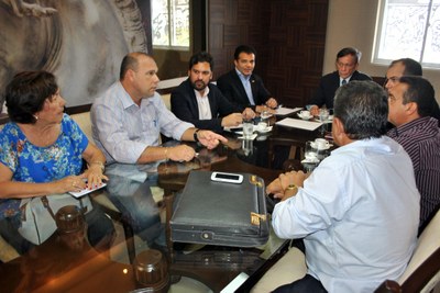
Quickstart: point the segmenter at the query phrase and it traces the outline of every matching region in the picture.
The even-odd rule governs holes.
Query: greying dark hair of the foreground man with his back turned
[[[388,98],[374,81],[353,80],[340,87],[333,110],[351,139],[381,137],[386,133]]]

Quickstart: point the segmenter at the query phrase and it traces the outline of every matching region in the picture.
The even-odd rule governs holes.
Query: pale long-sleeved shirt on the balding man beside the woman
[[[139,106],[120,81],[97,98],[90,110],[95,143],[107,162],[135,164],[147,146],[160,145],[160,134],[179,140],[193,124],[177,119],[155,92]]]

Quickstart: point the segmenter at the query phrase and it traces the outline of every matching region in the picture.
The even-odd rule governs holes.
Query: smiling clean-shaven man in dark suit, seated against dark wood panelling
[[[221,92],[240,110],[252,108],[263,112],[277,106],[276,100],[264,87],[263,80],[253,70],[255,68],[256,50],[251,46],[241,45],[235,48],[235,68],[217,79]],[[268,109],[267,109],[268,108]]]

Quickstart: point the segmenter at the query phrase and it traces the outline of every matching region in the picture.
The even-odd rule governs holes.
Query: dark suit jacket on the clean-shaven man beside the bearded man
[[[272,94],[264,87],[263,80],[257,75],[252,75],[250,81],[255,105],[264,104]],[[255,110],[255,105],[251,105],[248,99],[246,91],[244,90],[243,83],[241,82],[235,68],[219,77],[217,79],[217,87],[219,87],[229,101],[239,106],[240,112],[245,108],[252,108],[252,110]]]

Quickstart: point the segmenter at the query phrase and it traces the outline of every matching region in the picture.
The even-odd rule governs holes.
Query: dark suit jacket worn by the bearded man
[[[216,84],[209,83],[209,106],[211,108],[211,120],[199,119],[199,108],[196,93],[189,79],[185,80],[172,92],[172,112],[180,120],[193,123],[197,128],[222,132],[221,119],[231,113],[241,113],[232,103],[223,97]]]

